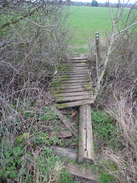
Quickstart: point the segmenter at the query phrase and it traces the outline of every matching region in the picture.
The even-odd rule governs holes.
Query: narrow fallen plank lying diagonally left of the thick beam
[[[78,131],[74,128],[74,126],[70,123],[70,121],[59,111],[58,109],[54,108],[56,115],[65,124],[65,126],[73,133],[73,135],[77,135]]]

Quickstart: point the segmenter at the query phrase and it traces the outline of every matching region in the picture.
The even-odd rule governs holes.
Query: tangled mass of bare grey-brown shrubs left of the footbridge
[[[0,173],[2,180],[7,171],[5,178],[10,182],[22,182],[25,176],[26,181],[33,176],[35,182],[36,177],[39,179],[39,170],[35,166],[37,147],[33,144],[41,140],[40,132],[51,128],[52,114],[45,106],[52,99],[47,90],[58,63],[65,56],[69,40],[68,7],[54,1],[11,0],[2,1],[0,10],[0,167],[3,171]],[[41,95],[46,101],[39,105]],[[41,122],[42,115],[49,123]],[[18,138],[22,150],[15,155]],[[11,159],[7,160],[6,149],[11,152],[8,155],[13,156]],[[41,151],[38,151],[38,156]],[[29,161],[25,157],[28,152],[32,154]],[[14,167],[20,169],[17,180],[16,175],[8,174],[4,167],[19,156],[22,156],[22,163]],[[60,165],[57,166],[58,174]],[[28,174],[24,173],[26,168],[30,170]]]

